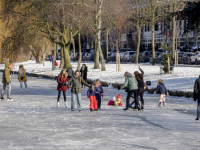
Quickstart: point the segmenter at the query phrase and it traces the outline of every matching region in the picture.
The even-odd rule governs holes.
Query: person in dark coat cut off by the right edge
[[[197,118],[199,120],[200,116],[200,76],[196,79],[194,84],[194,101],[197,101]]]

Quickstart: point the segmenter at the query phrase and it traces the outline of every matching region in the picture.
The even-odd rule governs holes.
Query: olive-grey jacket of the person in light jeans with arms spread
[[[81,93],[81,91],[82,91],[81,83],[83,83],[84,85],[90,87],[90,85],[87,84],[83,78],[81,78],[81,83],[80,83],[79,79],[76,76],[72,76],[72,78],[70,80],[68,80],[66,84],[69,84],[71,82],[73,82],[72,88],[71,88],[71,92],[73,94]]]

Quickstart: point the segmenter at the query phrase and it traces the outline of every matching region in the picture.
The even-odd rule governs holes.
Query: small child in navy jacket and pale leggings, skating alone
[[[162,105],[165,107],[165,95],[167,95],[168,93],[167,88],[165,87],[164,81],[162,79],[158,80],[157,90],[154,93],[157,92],[160,94],[158,107],[162,107]]]

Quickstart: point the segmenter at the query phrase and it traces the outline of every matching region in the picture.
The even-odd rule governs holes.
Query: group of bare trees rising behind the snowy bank
[[[75,54],[76,38],[79,46],[79,69],[82,58],[81,36],[90,36],[95,45],[94,69],[99,69],[101,62],[101,70],[105,71],[101,49],[102,34],[106,35],[107,60],[109,42],[113,42],[113,47],[118,50],[124,28],[136,27],[138,63],[141,29],[148,25],[151,27],[155,58],[155,24],[170,18],[170,12],[179,11],[183,6],[183,1],[179,0],[2,0],[1,16],[10,31],[4,37],[2,45],[12,50],[32,48],[34,57],[41,63],[50,42],[54,43],[62,47],[60,67],[68,68],[71,66],[69,48],[72,44]],[[171,19],[175,37],[175,17]],[[115,41],[109,40],[111,34]],[[175,45],[175,42],[172,44]],[[174,51],[174,46],[172,48]]]

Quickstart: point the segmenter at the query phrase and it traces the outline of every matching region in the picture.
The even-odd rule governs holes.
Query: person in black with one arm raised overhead
[[[141,71],[141,73],[139,73],[138,71],[134,72],[135,78],[138,81],[138,96],[140,96],[140,101],[141,101],[141,109],[144,109],[144,71],[140,68],[139,66],[139,70]],[[135,102],[133,101],[131,103],[130,106],[132,106]]]

